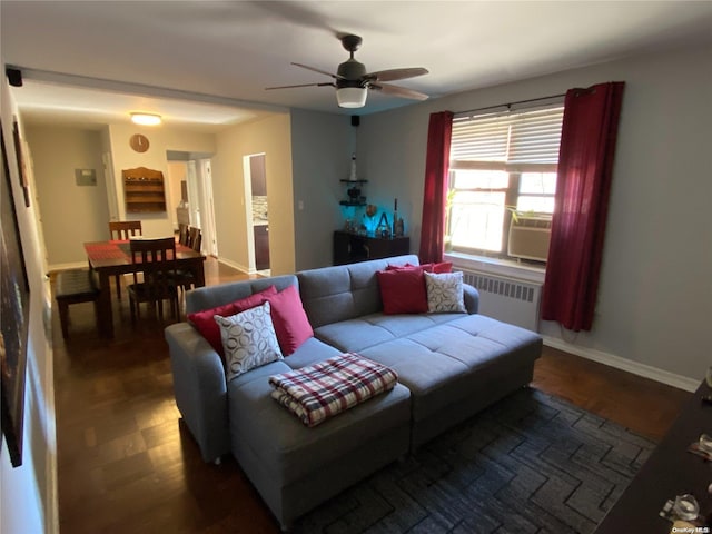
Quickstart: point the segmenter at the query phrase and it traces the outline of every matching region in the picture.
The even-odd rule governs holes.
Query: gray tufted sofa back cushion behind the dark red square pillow
[[[415,255],[297,273],[301,303],[314,328],[383,310],[376,273],[388,265],[418,264]]]

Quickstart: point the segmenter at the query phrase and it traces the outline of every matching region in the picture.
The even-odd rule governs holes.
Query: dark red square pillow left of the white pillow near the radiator
[[[376,273],[383,300],[383,313],[425,314],[427,290],[423,269],[393,269]]]

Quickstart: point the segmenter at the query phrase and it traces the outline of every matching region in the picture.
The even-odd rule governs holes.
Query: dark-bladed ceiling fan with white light
[[[323,87],[332,86],[336,88],[336,101],[342,108],[363,108],[366,105],[366,93],[368,89],[382,91],[385,95],[395,97],[411,98],[414,100],[426,100],[427,95],[405,87],[392,86],[383,83],[384,81],[404,80],[406,78],[415,78],[416,76],[427,75],[428,70],[423,67],[413,67],[406,69],[388,69],[376,72],[366,72],[366,66],[354,59],[354,52],[360,48],[363,42],[358,36],[345,34],[339,37],[342,46],[349,52],[350,57],[338,66],[336,75],[325,70],[309,67],[308,65],[295,63],[303,69],[313,70],[322,75],[330,76],[335,81],[320,83],[299,83],[296,86],[267,87],[266,89],[289,89],[294,87]]]

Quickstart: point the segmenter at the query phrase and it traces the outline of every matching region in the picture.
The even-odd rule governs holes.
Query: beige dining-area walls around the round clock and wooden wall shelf
[[[142,132],[150,141],[144,154],[129,147],[129,138]],[[79,127],[31,125],[27,140],[34,164],[34,180],[41,214],[47,263],[50,269],[86,265],[83,243],[109,238],[108,221],[141,220],[144,235],[172,235],[175,207],[180,199],[180,180],[169,179],[167,150],[214,152],[215,136],[159,127],[136,128],[111,125],[102,130]],[[102,154],[112,159],[110,169],[103,168]],[[121,170],[147,167],[164,172],[167,211],[159,214],[127,214],[123,201]],[[97,171],[97,186],[77,186],[75,169]],[[113,178],[113,179],[112,179]],[[108,189],[113,188],[116,207],[109,204]]]

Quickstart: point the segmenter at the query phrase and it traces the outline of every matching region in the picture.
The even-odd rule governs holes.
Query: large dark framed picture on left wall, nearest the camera
[[[0,127],[1,132],[1,127]],[[24,421],[24,382],[30,316],[30,286],[22,254],[12,196],[10,167],[4,136],[2,142],[2,180],[0,180],[0,375],[2,433],[13,467],[22,465],[22,423]]]

